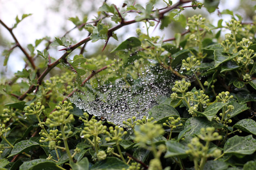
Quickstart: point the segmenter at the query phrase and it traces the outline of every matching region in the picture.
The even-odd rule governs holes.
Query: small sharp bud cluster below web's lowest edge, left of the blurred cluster
[[[127,131],[124,131],[123,127],[115,126],[115,129],[111,126],[109,127],[109,132],[105,133],[108,137],[105,138],[107,142],[110,140],[119,144],[123,139],[122,137],[127,134]]]

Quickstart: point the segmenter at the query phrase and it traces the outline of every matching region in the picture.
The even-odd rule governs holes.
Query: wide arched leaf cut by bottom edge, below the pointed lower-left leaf
[[[48,159],[34,159],[32,161],[23,162],[19,170],[43,170],[43,169],[54,169],[59,170],[56,164],[52,160]]]

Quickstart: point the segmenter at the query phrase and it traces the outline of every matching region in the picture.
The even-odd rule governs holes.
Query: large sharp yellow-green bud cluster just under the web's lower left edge
[[[105,134],[107,131],[106,125],[102,125],[102,121],[97,121],[95,116],[93,116],[90,120],[88,113],[84,113],[86,119],[82,119],[79,117],[79,120],[82,121],[85,125],[84,130],[80,133],[81,138],[90,138],[90,136],[98,136],[98,134]],[[93,139],[97,140],[98,139]]]

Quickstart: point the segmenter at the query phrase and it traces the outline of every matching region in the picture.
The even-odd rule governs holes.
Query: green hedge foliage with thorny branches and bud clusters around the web
[[[27,49],[20,45],[13,29],[31,14],[22,15],[22,19],[16,17],[12,28],[0,20],[15,40],[14,46],[2,53],[3,65],[16,47],[29,63],[11,81],[0,85],[0,169],[255,167],[256,21],[243,23],[241,16],[226,10],[223,13],[232,15],[230,22],[222,26],[220,19],[213,26],[202,15],[186,19],[182,11],[206,7],[212,13],[219,0],[164,2],[167,6],[161,9],[154,8],[155,0],[146,4],[124,1],[122,8],[104,3],[92,24],[86,23],[87,17],[82,21],[76,16],[69,18],[76,28],[89,33],[87,38],[73,43],[72,38],[64,36],[44,37]],[[191,5],[183,6],[188,2]],[[133,12],[136,17],[127,21],[126,16]],[[137,35],[111,47],[109,51],[115,57],[110,53],[84,56],[90,40],[105,40],[104,50],[109,38],[118,40],[116,30],[137,22],[145,24],[147,33],[137,28]],[[180,23],[187,31],[167,40],[150,36],[150,27],[161,23],[163,29],[171,22]],[[221,37],[223,30],[228,32],[225,37]],[[171,40],[175,42],[166,43]],[[37,47],[43,41],[46,44],[41,52]],[[58,46],[63,46],[60,51],[65,53],[55,59],[48,49]],[[80,49],[78,55],[75,49]],[[56,69],[57,74],[50,72]],[[129,89],[127,96],[146,98],[145,79],[140,78],[147,72],[150,76],[144,77],[150,82],[148,90],[163,88],[168,91],[167,98],[153,98],[145,109],[137,105],[139,111],[128,117],[125,113],[132,110],[127,109],[128,104],[106,102],[104,91],[114,89],[113,84],[120,80],[119,91],[111,91],[113,95]],[[158,77],[153,79],[155,76]],[[166,77],[171,81],[163,80]],[[117,100],[124,98],[120,95]],[[101,108],[95,109],[99,113],[90,115],[95,110],[83,107],[85,102],[99,100],[107,117],[102,117]],[[113,107],[123,115],[114,118],[109,110]],[[121,123],[115,124],[113,119],[120,119]]]

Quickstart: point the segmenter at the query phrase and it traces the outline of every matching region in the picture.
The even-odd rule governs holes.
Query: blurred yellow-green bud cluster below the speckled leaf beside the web
[[[164,129],[161,125],[149,122],[138,126],[138,130],[135,131],[135,141],[147,144],[148,141],[152,141],[163,133]]]

